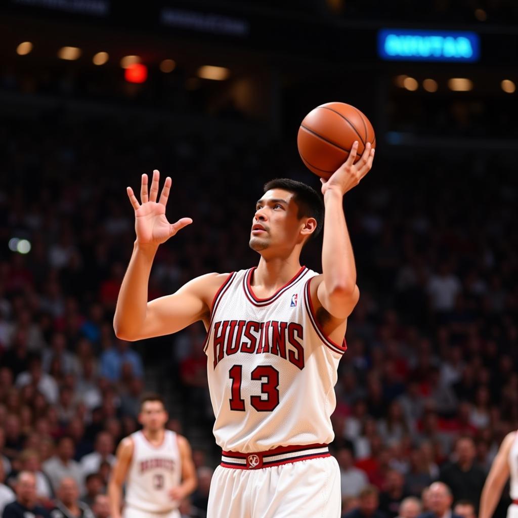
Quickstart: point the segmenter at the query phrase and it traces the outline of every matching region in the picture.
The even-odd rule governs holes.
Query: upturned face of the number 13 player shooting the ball
[[[293,250],[304,240],[301,233],[307,218],[298,218],[294,193],[271,189],[263,194],[255,206],[250,232],[250,248],[256,252],[266,249]]]

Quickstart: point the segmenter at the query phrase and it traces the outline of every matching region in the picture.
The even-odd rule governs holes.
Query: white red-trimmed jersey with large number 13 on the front
[[[205,343],[214,436],[224,451],[329,443],[334,386],[346,343],[327,338],[302,267],[271,297],[257,298],[255,268],[229,275],[212,303]]]

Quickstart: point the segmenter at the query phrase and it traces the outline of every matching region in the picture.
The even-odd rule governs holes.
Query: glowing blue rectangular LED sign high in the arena
[[[378,55],[395,61],[479,60],[479,35],[473,32],[382,29],[378,33]]]

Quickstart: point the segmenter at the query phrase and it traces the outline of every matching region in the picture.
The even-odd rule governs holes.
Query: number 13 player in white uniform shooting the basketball
[[[261,255],[256,268],[204,275],[149,303],[157,247],[192,220],[169,224],[171,179],[156,203],[159,171],[153,172],[149,196],[142,175],[141,203],[127,188],[137,238],[114,328],[120,338],[139,340],[204,322],[213,433],[223,450],[211,482],[209,518],[340,516],[340,472],[327,445],[334,438],[333,387],[346,350],[347,317],[359,297],[342,204],[374,158],[367,143],[354,164],[357,147],[355,142],[348,160],[322,180],[323,201],[293,180],[265,185],[249,243]],[[299,256],[322,227],[319,275],[300,266]]]

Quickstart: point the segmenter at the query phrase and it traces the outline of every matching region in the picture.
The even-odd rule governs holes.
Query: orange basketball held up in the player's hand
[[[357,162],[367,142],[376,147],[369,119],[350,104],[326,103],[304,118],[298,130],[297,146],[306,167],[315,175],[329,178],[347,160],[355,140]]]

